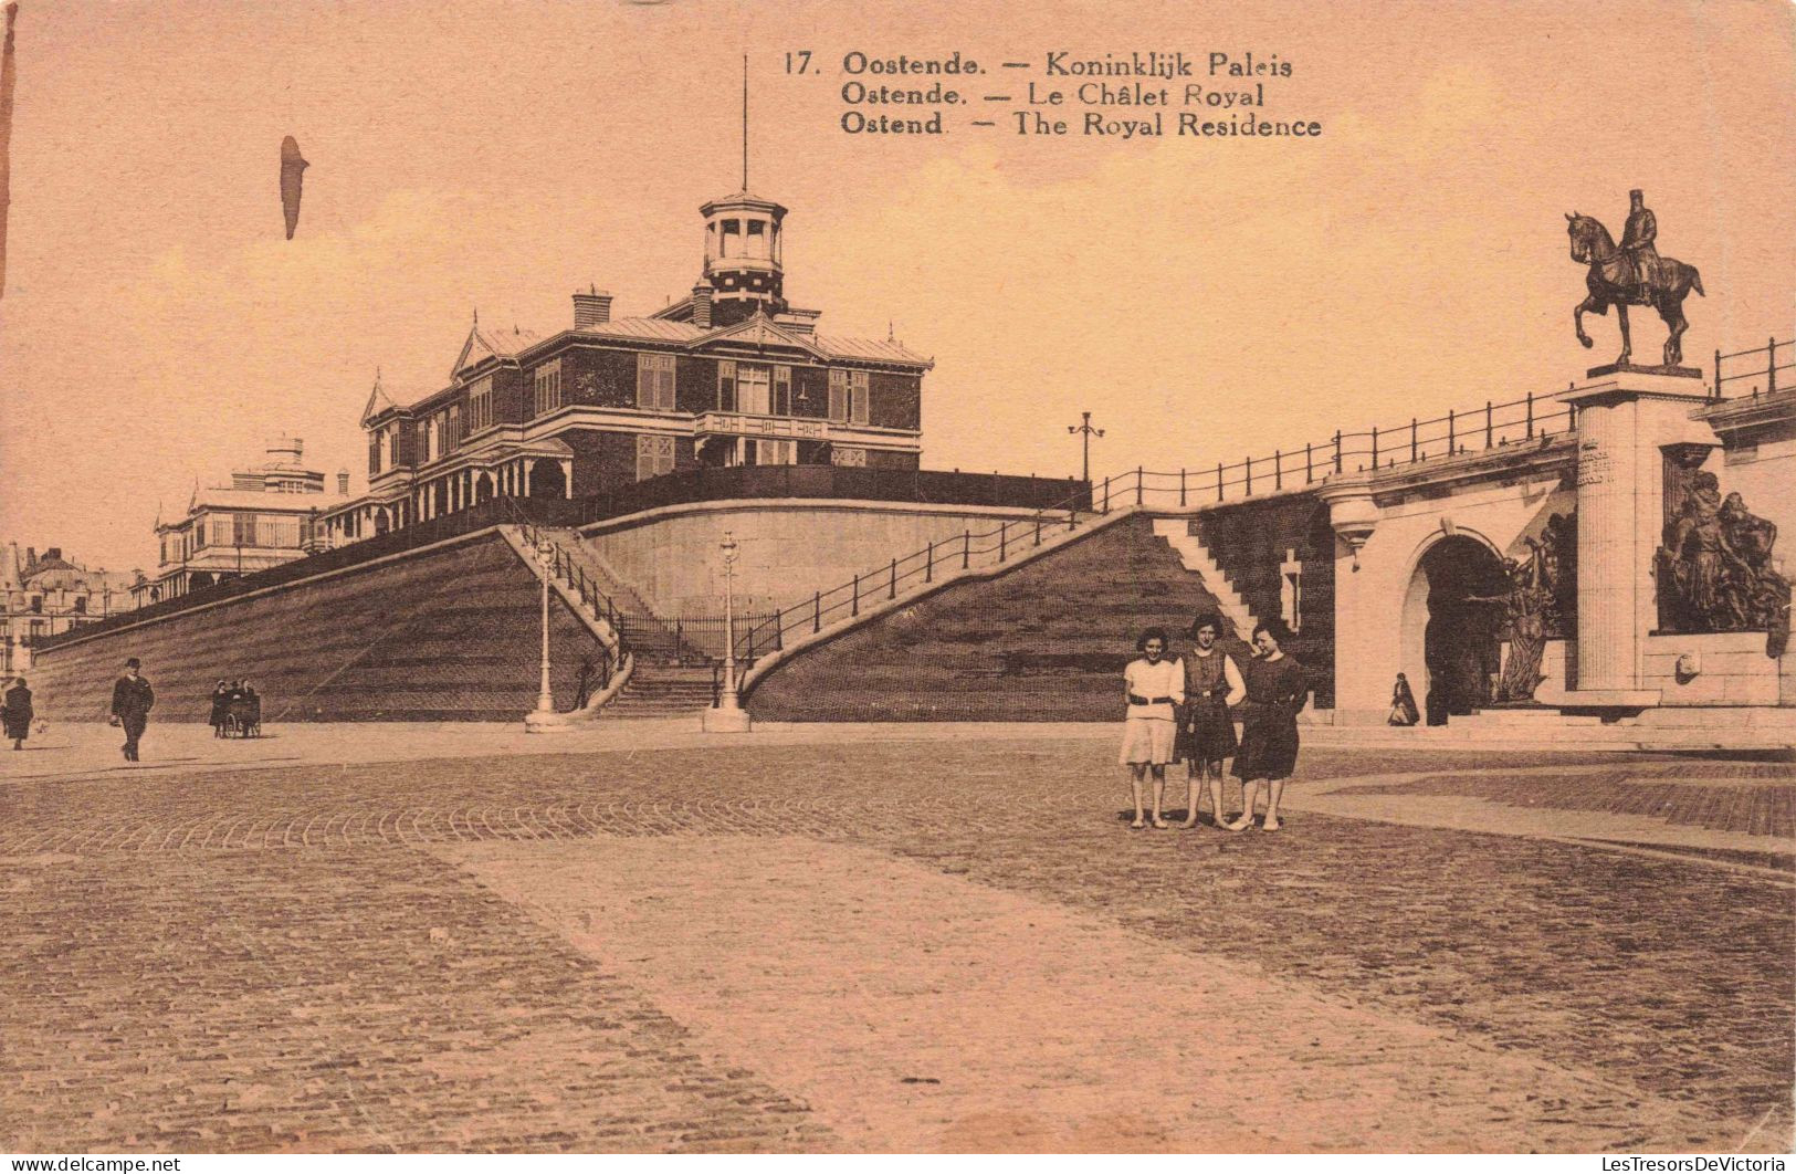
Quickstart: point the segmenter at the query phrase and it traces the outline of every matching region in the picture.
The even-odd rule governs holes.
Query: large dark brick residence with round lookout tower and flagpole
[[[327,512],[339,546],[496,495],[589,497],[695,467],[918,469],[923,373],[894,339],[817,330],[785,298],[787,208],[738,192],[700,208],[691,294],[614,318],[573,294],[569,329],[478,316],[447,386],[415,402],[375,381],[368,494]]]

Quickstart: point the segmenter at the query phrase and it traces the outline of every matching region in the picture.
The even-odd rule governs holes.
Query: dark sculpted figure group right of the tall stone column
[[[1765,653],[1789,644],[1791,582],[1773,551],[1778,528],[1721,497],[1712,472],[1692,479],[1683,510],[1667,526],[1656,558],[1660,626],[1667,632],[1765,632]]]

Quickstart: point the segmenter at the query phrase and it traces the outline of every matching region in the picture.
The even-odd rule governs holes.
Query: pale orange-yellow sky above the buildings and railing
[[[821,74],[783,72],[799,48]],[[1149,48],[1277,54],[1263,117],[1324,133],[837,124],[850,50],[1029,61],[950,81],[1020,95],[1049,50]],[[1099,472],[1171,470],[1563,390],[1620,350],[1613,318],[1572,336],[1564,214],[1620,235],[1631,187],[1703,273],[1686,361],[1796,332],[1782,0],[22,0],[0,539],[151,569],[158,503],[268,436],[359,490],[375,368],[442,388],[476,305],[551,332],[587,284],[618,316],[686,293],[697,208],[738,185],[744,52],[787,294],[934,355],[927,469],[1072,474],[1081,409]],[[311,162],[293,241],[284,135]],[[1661,341],[1636,312],[1636,357]]]

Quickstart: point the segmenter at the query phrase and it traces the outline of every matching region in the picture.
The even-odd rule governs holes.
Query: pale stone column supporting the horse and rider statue
[[[1647,632],[1658,625],[1652,555],[1665,530],[1667,445],[1713,443],[1690,413],[1697,372],[1595,368],[1559,395],[1577,411],[1577,689],[1570,705],[1656,705],[1643,689]]]

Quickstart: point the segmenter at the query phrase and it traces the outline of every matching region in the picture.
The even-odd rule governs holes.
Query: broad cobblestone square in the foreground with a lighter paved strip
[[[1500,799],[1561,793],[1546,779],[1651,790],[1679,770],[1430,761],[1476,763],[1451,777]],[[1114,747],[1092,740],[14,781],[0,790],[0,933],[18,942],[0,960],[0,1147],[1787,1147],[1787,880],[1302,813],[1318,781],[1349,790],[1430,761],[1309,754],[1291,786],[1299,815],[1277,837],[1130,831]],[[1699,774],[1748,790],[1792,777],[1712,761]],[[776,867],[788,858],[806,867]],[[709,880],[688,883],[682,862],[706,862]],[[889,907],[878,887],[855,889],[882,869],[894,869]],[[731,876],[747,878],[726,903],[738,921],[763,941],[801,932],[823,951],[814,968],[754,971],[731,921],[699,916]],[[806,878],[817,892],[792,908],[769,898]],[[860,892],[858,914],[824,890]],[[611,912],[594,921],[594,908]],[[932,937],[961,921],[973,928]],[[781,1047],[788,1021],[835,998],[841,984],[817,975],[862,955],[894,975],[925,946],[1002,969],[1026,924],[1043,941],[1017,975],[1020,998],[1078,1021],[1054,991],[1081,993],[1131,1061],[1097,1038],[1058,1057],[1056,1079],[1018,1084],[1042,1059],[1040,1032],[1002,1029],[1006,986],[963,989],[939,968],[887,984],[851,1021],[884,1023],[867,1029],[887,1047],[873,1054],[896,1064],[911,1054],[889,1032],[973,1023],[943,1020],[941,1000],[982,993],[997,1023],[977,1034],[984,1082],[1052,1086],[1031,1093],[1043,1113],[952,1100],[954,1048],[929,1054],[930,1072],[857,1086],[842,1073],[867,1039],[806,1034],[828,1063]],[[1008,944],[981,953],[982,935]],[[1281,1009],[1275,1030],[1254,1025],[1243,989]],[[1200,1036],[1209,1050],[1166,1050],[1158,1032],[1124,1030],[1105,991],[1167,1039],[1205,1020],[1241,1027]],[[733,1027],[729,998],[754,1012],[742,1018],[753,1030]],[[1383,1057],[1381,1034],[1397,1041]],[[1268,1066],[1302,1077],[1254,1093],[1282,1113],[1184,1124],[1239,1100],[1241,1073]],[[1413,1079],[1390,1075],[1406,1068]],[[1189,1084],[1169,1100],[1115,1095],[1114,1081],[1157,1070]],[[1372,1077],[1379,1111],[1349,1111]]]

